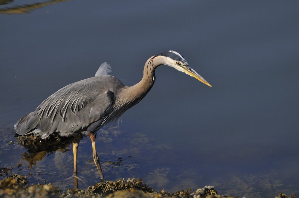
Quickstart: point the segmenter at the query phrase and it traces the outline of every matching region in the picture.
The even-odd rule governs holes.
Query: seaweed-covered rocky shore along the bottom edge
[[[1,172],[7,174],[9,168],[0,168]],[[59,190],[51,183],[36,185],[30,184],[26,176],[18,174],[9,174],[3,180],[0,180],[0,197],[179,197],[179,198],[220,198],[225,197],[217,194],[213,186],[205,186],[191,193],[191,189],[186,191],[179,190],[175,193],[154,191],[145,184],[142,179],[120,179],[118,181],[107,181],[96,183],[83,189],[68,189],[66,191]],[[287,196],[280,193],[275,198],[295,198],[296,195]],[[233,198],[233,197],[230,197]]]

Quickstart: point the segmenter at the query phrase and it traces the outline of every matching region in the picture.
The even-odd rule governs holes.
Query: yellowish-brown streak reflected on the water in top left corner
[[[0,0],[1,2],[3,1],[3,4],[7,4],[9,1],[8,0]],[[0,9],[0,14],[27,14],[30,13],[32,10],[42,8],[51,4],[57,4],[61,3],[64,1],[70,1],[70,0],[50,0],[50,1],[45,1],[42,3],[34,3],[34,4],[26,4],[22,6],[14,6],[14,7],[7,7],[4,9]]]

